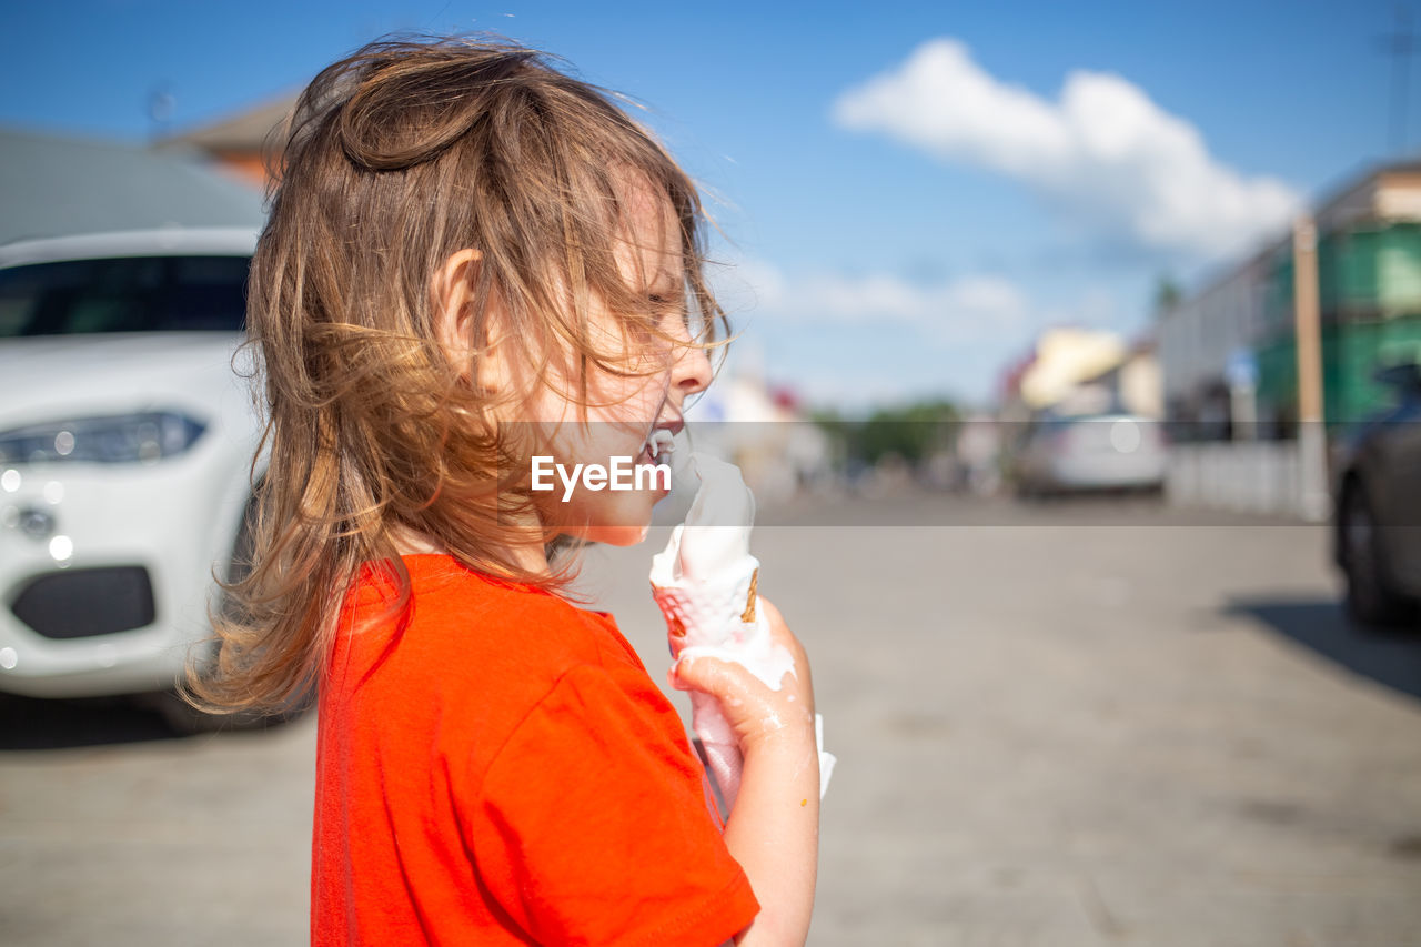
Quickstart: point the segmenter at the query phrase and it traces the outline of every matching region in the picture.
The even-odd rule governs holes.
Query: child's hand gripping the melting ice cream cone
[[[780,690],[772,690],[745,665],[698,654],[686,648],[669,674],[671,685],[679,691],[701,691],[715,697],[735,729],[745,756],[770,745],[814,745],[814,684],[810,678],[809,656],[804,646],[784,624],[780,610],[763,596],[759,606],[770,624],[770,640],[790,653],[793,670],[780,678]]]

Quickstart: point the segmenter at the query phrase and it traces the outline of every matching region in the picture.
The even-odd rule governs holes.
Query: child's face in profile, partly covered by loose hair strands
[[[710,360],[703,348],[692,346],[686,326],[681,237],[669,202],[647,188],[628,188],[627,198],[630,239],[618,246],[618,266],[627,284],[641,291],[658,314],[659,331],[637,334],[635,328],[624,328],[615,313],[594,300],[591,330],[598,337],[593,341],[601,351],[624,353],[618,360],[624,374],[588,365],[585,405],[577,401],[574,382],[553,380],[553,385],[539,388],[527,419],[540,425],[567,476],[577,464],[597,464],[611,474],[615,458],[631,458],[624,462],[631,468],[625,481],[635,486],[635,468],[654,465],[654,432],[678,432],[685,400],[710,384]],[[612,489],[610,483],[590,489],[578,476],[567,493],[561,475],[553,474],[553,489],[533,495],[544,535],[614,546],[641,542],[651,525],[651,508],[668,491],[662,489],[665,478],[654,476],[651,469],[644,469],[639,479],[642,489]]]

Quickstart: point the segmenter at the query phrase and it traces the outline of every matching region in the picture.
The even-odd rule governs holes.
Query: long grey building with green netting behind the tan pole
[[[1387,391],[1373,374],[1421,344],[1421,164],[1371,171],[1326,198],[1313,218],[1323,415],[1334,427],[1384,407]],[[1177,437],[1295,437],[1292,236],[1161,313],[1158,338]]]

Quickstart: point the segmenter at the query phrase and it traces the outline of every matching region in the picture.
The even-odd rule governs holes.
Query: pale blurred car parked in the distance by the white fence
[[[1016,459],[1022,496],[1090,491],[1158,491],[1165,478],[1158,421],[1134,414],[1042,415]]]

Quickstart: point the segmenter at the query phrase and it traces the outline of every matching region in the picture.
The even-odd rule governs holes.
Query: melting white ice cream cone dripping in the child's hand
[[[686,519],[652,557],[651,586],[666,619],[671,654],[736,661],[766,687],[780,690],[794,674],[794,657],[774,643],[769,619],[756,607],[760,562],[750,555],[755,495],[739,468],[693,452],[691,465],[701,486]],[[706,764],[726,806],[735,806],[740,785],[740,751],[719,702],[692,691],[691,727],[706,751]],[[820,742],[823,751],[823,742]],[[834,758],[820,752],[820,795]]]

